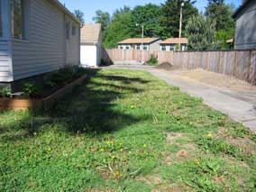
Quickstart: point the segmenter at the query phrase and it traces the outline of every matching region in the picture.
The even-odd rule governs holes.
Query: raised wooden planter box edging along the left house
[[[60,88],[54,94],[41,99],[19,99],[19,98],[0,98],[0,110],[27,110],[27,109],[50,109],[59,99],[72,93],[73,88],[81,85],[87,76],[78,78],[69,85]]]

